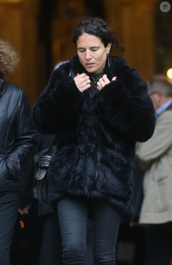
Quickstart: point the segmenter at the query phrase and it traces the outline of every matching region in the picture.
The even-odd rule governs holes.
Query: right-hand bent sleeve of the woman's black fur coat
[[[123,58],[117,69],[116,81],[101,89],[98,103],[109,124],[133,141],[146,142],[155,129],[155,111],[147,84]]]

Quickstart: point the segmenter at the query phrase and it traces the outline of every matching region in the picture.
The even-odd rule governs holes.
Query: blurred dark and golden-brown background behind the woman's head
[[[31,107],[56,63],[76,54],[71,42],[77,17],[103,17],[123,39],[127,63],[147,80],[172,68],[172,4],[159,0],[0,0],[0,38],[20,54],[7,81],[22,87]],[[170,3],[171,0],[168,0]]]

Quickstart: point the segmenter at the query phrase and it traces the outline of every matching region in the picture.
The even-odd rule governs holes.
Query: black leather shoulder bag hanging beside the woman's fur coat
[[[69,73],[69,76],[75,77],[73,67]],[[39,202],[50,205],[47,199],[48,194],[48,182],[47,174],[48,168],[52,156],[55,154],[58,141],[58,135],[55,136],[54,141],[48,150],[43,150],[35,156],[35,186]]]

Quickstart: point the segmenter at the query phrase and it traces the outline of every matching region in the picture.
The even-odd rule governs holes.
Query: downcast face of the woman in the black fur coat
[[[102,73],[111,43],[105,48],[103,42],[94,35],[82,34],[77,39],[77,52],[80,63],[89,73]]]

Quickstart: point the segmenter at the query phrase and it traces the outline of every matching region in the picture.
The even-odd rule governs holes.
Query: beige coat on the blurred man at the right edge
[[[138,143],[136,157],[146,170],[139,223],[172,221],[172,109],[157,118],[152,138]]]

